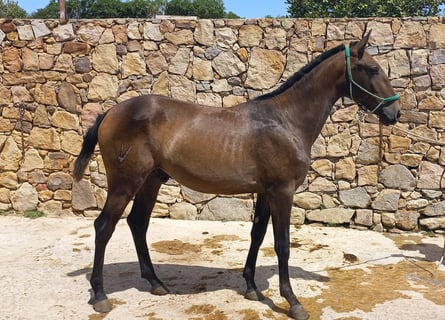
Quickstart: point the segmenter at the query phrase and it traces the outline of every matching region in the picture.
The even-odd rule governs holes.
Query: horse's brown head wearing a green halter
[[[399,95],[380,65],[365,49],[371,32],[359,42],[345,46],[348,94],[384,124],[394,124],[400,117]]]

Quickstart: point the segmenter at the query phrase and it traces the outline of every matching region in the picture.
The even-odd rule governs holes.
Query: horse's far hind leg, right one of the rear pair
[[[127,218],[136,246],[141,276],[150,282],[151,293],[156,295],[164,295],[169,291],[155,274],[148,252],[146,234],[159,188],[167,179],[168,177],[160,171],[152,172],[136,194],[133,207]]]

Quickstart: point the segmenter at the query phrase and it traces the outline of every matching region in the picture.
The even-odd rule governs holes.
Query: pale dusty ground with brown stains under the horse
[[[0,217],[2,319],[288,319],[268,231],[256,272],[263,302],[243,298],[250,223],[153,219],[148,240],[171,294],[140,278],[125,220],[108,245],[104,281],[113,310],[88,304],[93,220]],[[269,228],[271,229],[271,228]],[[290,275],[310,319],[444,319],[443,237],[291,227]]]

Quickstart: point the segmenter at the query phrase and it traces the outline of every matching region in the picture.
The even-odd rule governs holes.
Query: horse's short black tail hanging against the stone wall
[[[74,162],[73,176],[76,181],[80,181],[80,179],[82,179],[85,168],[87,167],[88,162],[90,162],[94,148],[97,144],[97,132],[99,131],[99,126],[105,115],[106,112],[97,116],[96,122],[91,128],[88,129],[87,134],[83,139],[82,150],[80,150],[80,154]]]

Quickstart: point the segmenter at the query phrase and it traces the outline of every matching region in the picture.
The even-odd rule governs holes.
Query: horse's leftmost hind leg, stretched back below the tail
[[[96,239],[93,272],[91,274],[90,283],[94,292],[93,307],[97,312],[108,312],[111,310],[111,304],[108,301],[103,288],[105,248],[126,205],[134,194],[131,193],[131,189],[131,185],[126,185],[125,183],[122,183],[119,188],[110,188],[105,206],[94,221]]]

